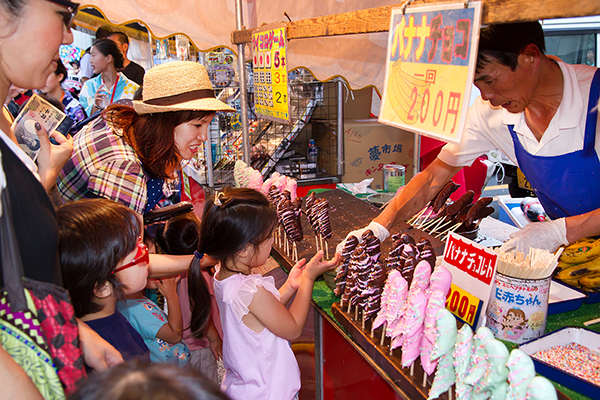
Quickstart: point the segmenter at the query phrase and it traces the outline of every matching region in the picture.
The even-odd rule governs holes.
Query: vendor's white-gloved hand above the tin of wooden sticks
[[[532,222],[510,235],[511,239],[500,247],[500,252],[520,251],[528,254],[531,247],[554,253],[559,246],[569,244],[564,218],[554,221]]]

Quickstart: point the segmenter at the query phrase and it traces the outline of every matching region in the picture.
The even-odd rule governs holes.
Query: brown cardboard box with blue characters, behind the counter
[[[374,178],[371,189],[383,189],[383,166],[404,165],[405,181],[414,175],[414,133],[384,125],[377,120],[344,122],[343,183]]]

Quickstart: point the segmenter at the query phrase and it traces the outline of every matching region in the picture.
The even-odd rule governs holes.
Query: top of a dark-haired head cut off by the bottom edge
[[[128,361],[90,375],[69,400],[228,400],[200,372]]]

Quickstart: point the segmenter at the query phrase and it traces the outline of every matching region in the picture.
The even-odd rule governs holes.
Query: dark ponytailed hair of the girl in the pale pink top
[[[254,189],[225,188],[207,199],[200,224],[198,252],[221,263],[221,268],[235,260],[235,255],[248,244],[258,247],[269,238],[277,223],[277,213],[265,195]],[[201,334],[210,313],[208,303],[201,298],[206,285],[200,270],[200,260],[194,257],[188,271],[188,293],[192,317],[190,328]]]

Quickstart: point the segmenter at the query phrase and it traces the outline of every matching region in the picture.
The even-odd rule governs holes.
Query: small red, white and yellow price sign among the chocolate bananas
[[[446,308],[473,330],[483,323],[492,292],[498,254],[469,239],[450,233],[442,265],[452,273]]]

